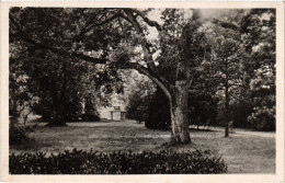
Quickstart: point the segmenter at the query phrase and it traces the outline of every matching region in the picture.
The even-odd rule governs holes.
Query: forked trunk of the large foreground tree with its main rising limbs
[[[172,142],[174,144],[187,144],[191,142],[190,133],[189,133],[189,107],[187,107],[187,98],[189,98],[189,88],[191,84],[191,73],[190,73],[190,61],[193,57],[191,53],[192,46],[192,35],[191,25],[187,25],[183,28],[183,36],[186,37],[183,48],[183,60],[178,61],[176,67],[176,81],[175,85],[171,85],[163,77],[159,77],[157,72],[157,67],[150,54],[150,47],[147,44],[145,38],[144,31],[136,20],[135,14],[129,10],[124,10],[128,22],[135,27],[137,33],[142,37],[141,46],[144,50],[144,59],[147,62],[148,69],[144,67],[133,67],[139,72],[149,77],[160,89],[164,92],[167,98],[170,101],[170,114],[171,114],[171,127],[172,127]],[[153,23],[152,23],[153,24]],[[156,25],[158,27],[158,24]]]

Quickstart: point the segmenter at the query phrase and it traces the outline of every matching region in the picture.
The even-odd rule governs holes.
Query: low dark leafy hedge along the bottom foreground
[[[11,174],[205,174],[225,173],[227,165],[209,150],[96,153],[73,149],[57,156],[12,153],[9,171]]]

